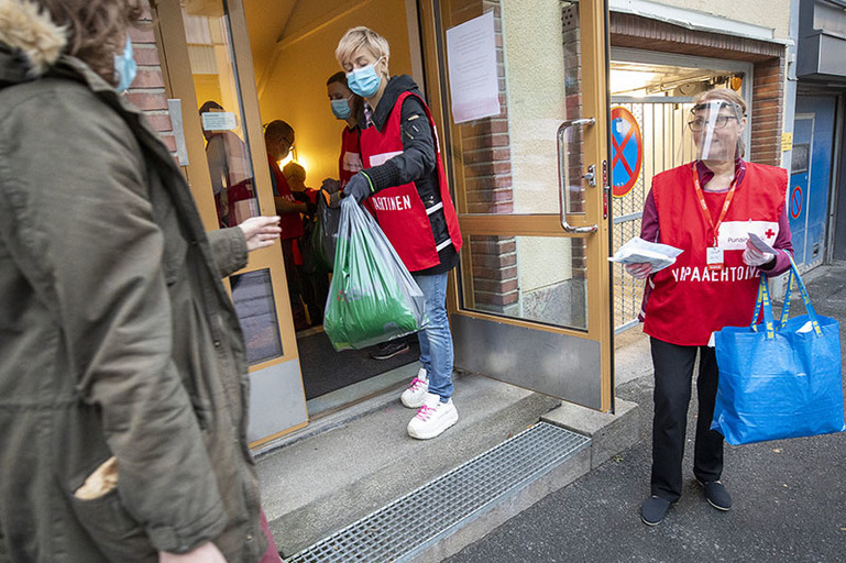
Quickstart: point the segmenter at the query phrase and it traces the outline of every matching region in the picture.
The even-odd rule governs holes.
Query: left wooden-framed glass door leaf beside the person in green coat
[[[177,157],[206,228],[275,214],[241,0],[151,3]],[[246,342],[256,446],[308,422],[279,244],[226,283]]]

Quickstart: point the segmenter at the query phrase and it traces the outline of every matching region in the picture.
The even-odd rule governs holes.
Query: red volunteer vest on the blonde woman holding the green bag
[[[375,126],[370,126],[361,132],[361,155],[365,168],[384,164],[392,157],[403,153],[399,121],[402,119],[403,101],[408,96],[416,95],[411,92],[399,95],[383,132],[380,132]],[[455,252],[458,252],[461,250],[462,243],[459,219],[452,205],[452,198],[450,198],[449,186],[447,185],[447,174],[443,170],[435,121],[426,103],[424,103],[424,108],[426,108],[426,115],[429,119],[432,139],[435,140],[435,158],[438,170],[438,185],[440,187],[441,201],[443,202],[443,216],[447,219],[450,240],[455,247]],[[396,249],[397,254],[409,272],[419,272],[440,264],[440,258],[438,258],[438,251],[440,249],[435,243],[429,216],[426,213],[426,207],[414,183],[385,188],[371,196],[366,201],[367,208],[376,218],[376,221],[378,221],[380,227],[385,232],[391,244]]]

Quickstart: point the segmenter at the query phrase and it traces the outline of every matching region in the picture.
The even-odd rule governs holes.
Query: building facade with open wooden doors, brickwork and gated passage
[[[840,3],[153,0],[149,29],[132,34],[140,71],[128,96],[184,166],[209,229],[220,223],[218,186],[231,181],[207,155],[209,137],[222,132],[246,155],[253,200],[240,213],[273,213],[262,126],[293,125],[290,158],[306,185],[337,177],[341,122],[326,97],[340,69],[334,46],[353,25],[378,31],[391,43],[392,74],[413,76],[432,109],[460,216],[465,244],[449,294],[457,366],[611,411],[613,335],[636,324],[641,287],[606,257],[639,232],[651,176],[690,157],[684,113],[702,89],[746,98],[747,158],[801,170],[807,155],[789,195],[798,262],[843,260],[846,71],[829,54],[843,41]],[[468,35],[462,52],[448,36],[468,23],[492,37],[498,111],[459,120],[455,69],[481,47]],[[220,114],[201,117],[207,101]],[[613,108],[641,131],[637,166],[627,163],[637,174],[615,168]],[[821,123],[833,126],[826,188],[812,161],[825,144]],[[628,180],[626,189],[613,178]],[[795,190],[801,181],[810,187]],[[818,228],[813,205],[823,199]],[[334,352],[319,328],[296,331],[278,247],[259,253],[231,286],[251,350],[257,450],[416,371],[414,346],[374,365],[366,351]]]

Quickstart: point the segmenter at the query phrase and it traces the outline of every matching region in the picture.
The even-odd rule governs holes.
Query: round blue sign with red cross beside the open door
[[[644,137],[635,115],[626,108],[611,109],[611,184],[615,198],[631,191],[640,177]]]

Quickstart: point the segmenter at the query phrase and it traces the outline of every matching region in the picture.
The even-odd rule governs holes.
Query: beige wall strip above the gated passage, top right
[[[769,27],[773,30],[774,38],[788,38],[790,0],[660,0],[656,3]]]

